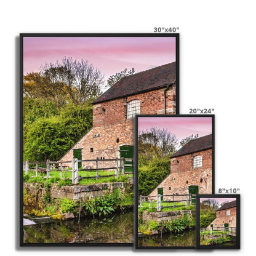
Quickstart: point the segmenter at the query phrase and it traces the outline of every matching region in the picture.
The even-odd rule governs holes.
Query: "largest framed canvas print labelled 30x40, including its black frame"
[[[135,114],[178,113],[178,38],[20,34],[21,246],[132,246]]]

